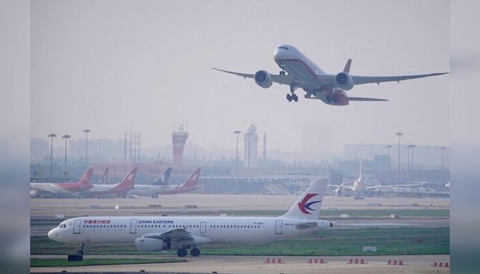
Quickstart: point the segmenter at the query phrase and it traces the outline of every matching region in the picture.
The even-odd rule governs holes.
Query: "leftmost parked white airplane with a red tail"
[[[92,169],[87,169],[76,183],[30,183],[30,197],[77,197],[81,191],[93,188]]]

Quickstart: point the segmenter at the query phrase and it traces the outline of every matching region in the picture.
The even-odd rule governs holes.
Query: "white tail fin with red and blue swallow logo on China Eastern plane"
[[[326,183],[327,179],[315,179],[282,217],[317,220],[320,216],[320,208],[322,208]]]

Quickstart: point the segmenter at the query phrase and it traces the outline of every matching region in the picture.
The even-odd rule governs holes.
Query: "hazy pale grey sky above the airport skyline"
[[[329,73],[348,58],[352,75],[449,71],[448,1],[32,1],[31,14],[32,137],[126,129],[158,147],[180,120],[188,142],[221,149],[248,123],[285,151],[317,124],[330,125],[335,150],[395,143],[398,131],[405,143],[449,144],[449,75],[355,86],[348,95],[389,102],[333,107],[210,69],[278,73],[273,52],[288,43]]]

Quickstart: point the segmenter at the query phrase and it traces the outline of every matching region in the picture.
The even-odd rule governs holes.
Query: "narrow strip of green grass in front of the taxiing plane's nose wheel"
[[[84,259],[82,262],[68,262],[65,259],[30,259],[30,267],[92,266],[108,264],[163,264],[187,262],[184,259]]]

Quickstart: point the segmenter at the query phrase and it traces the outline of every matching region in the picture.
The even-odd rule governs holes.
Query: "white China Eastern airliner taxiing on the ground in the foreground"
[[[51,240],[84,244],[130,243],[138,251],[177,250],[180,257],[199,256],[199,245],[256,244],[293,238],[332,227],[319,220],[326,179],[315,179],[290,210],[278,217],[243,216],[84,216],[62,221],[51,229]]]

